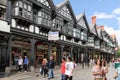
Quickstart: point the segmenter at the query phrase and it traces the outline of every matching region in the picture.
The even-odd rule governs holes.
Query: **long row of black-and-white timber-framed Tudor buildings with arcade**
[[[20,55],[28,56],[31,67],[50,55],[56,65],[63,56],[71,56],[77,63],[88,58],[110,60],[116,38],[95,21],[94,17],[89,26],[85,13],[75,16],[69,0],[56,6],[52,0],[1,0],[0,74],[16,70]],[[59,40],[49,41],[50,31],[59,32]]]

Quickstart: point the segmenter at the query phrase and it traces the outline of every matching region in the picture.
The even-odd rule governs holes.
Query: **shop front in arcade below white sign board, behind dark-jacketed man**
[[[37,41],[35,46],[35,66],[41,65],[43,59],[49,60],[50,55],[53,55],[54,60],[57,61],[57,46],[50,45],[48,42],[45,41]]]

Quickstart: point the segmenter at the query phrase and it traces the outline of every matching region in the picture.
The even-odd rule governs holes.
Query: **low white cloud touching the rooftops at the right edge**
[[[108,34],[115,34],[116,35],[116,39],[118,41],[118,44],[120,45],[120,29],[119,30],[114,30],[111,27],[105,26],[105,30],[108,32]]]

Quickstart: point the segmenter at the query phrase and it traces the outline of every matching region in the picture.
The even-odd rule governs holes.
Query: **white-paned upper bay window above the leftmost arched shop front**
[[[32,20],[32,5],[27,2],[16,1],[14,5],[14,15],[22,16]]]

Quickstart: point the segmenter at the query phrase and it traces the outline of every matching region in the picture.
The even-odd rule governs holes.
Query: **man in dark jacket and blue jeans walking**
[[[50,60],[48,62],[49,65],[49,75],[48,75],[48,79],[54,78],[54,72],[53,69],[55,67],[55,61],[53,56],[50,56]]]

